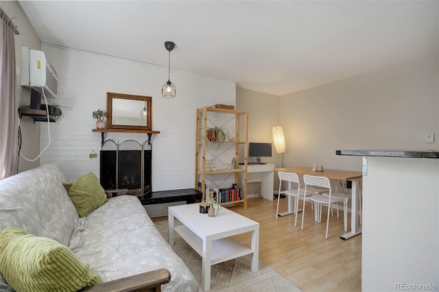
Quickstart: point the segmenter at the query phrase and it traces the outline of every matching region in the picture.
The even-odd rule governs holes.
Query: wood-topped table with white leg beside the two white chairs
[[[275,171],[294,172],[298,175],[315,175],[324,176],[330,180],[351,180],[352,181],[352,199],[351,199],[351,232],[343,234],[340,239],[347,240],[353,236],[361,234],[361,228],[357,226],[357,206],[358,206],[358,182],[363,175],[360,171],[342,171],[336,169],[324,169],[324,171],[312,171],[311,167],[285,167],[274,169]],[[355,194],[355,195],[354,195]]]

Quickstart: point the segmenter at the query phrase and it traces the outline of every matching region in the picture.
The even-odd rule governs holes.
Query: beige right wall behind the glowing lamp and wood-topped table
[[[438,149],[439,58],[431,56],[280,98],[285,165],[361,170],[337,149]],[[436,135],[426,143],[427,133]]]

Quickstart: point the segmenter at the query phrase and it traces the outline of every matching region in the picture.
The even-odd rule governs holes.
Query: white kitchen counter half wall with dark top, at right
[[[361,291],[398,290],[401,280],[439,287],[439,159],[419,159],[439,149],[337,155],[362,156]]]

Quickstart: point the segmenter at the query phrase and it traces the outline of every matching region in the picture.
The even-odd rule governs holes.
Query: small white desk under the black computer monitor
[[[244,165],[239,165],[239,169],[244,169]],[[244,182],[244,174],[239,175],[239,184],[244,186],[249,182],[261,182],[261,196],[264,199],[273,200],[274,193],[274,165],[247,165],[247,182]]]

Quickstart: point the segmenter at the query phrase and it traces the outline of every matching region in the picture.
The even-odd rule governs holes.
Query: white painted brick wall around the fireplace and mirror
[[[45,44],[43,51],[59,78],[59,97],[49,99],[49,104],[71,109],[62,110],[59,123],[50,123],[51,143],[42,165],[58,165],[67,180],[88,171],[99,177],[101,134],[91,132],[96,127],[92,112],[106,109],[107,92],[145,95],[152,97],[152,128],[161,132],[152,136],[153,191],[194,187],[196,108],[235,105],[234,81],[171,69],[177,96],[163,99],[167,67]],[[107,133],[106,138],[145,141],[147,135]],[[48,141],[47,123],[41,123],[41,149]],[[98,158],[89,158],[92,151]]]

